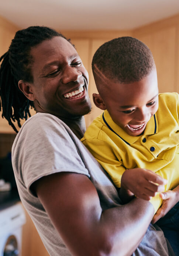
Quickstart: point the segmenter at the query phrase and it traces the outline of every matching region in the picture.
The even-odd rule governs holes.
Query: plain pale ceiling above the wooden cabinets
[[[1,0],[0,16],[20,28],[126,30],[179,13],[179,0]]]

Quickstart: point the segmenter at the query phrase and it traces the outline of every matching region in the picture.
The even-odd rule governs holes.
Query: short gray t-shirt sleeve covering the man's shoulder
[[[89,177],[73,136],[53,116],[34,116],[27,121],[13,145],[12,160],[17,178],[23,181],[28,190],[34,181],[57,172],[79,173]]]

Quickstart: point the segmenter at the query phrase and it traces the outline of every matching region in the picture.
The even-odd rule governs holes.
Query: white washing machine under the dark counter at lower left
[[[0,210],[0,256],[21,256],[24,223],[25,214],[19,203]]]

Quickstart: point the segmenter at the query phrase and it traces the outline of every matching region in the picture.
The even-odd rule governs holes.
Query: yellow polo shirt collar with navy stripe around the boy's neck
[[[128,145],[134,143],[137,141],[140,136],[131,136],[127,134],[121,127],[119,127],[115,122],[113,122],[109,112],[105,110],[101,116],[101,121],[104,125],[106,125],[111,131],[113,131],[118,137],[120,137],[124,142],[126,142]],[[156,114],[151,117],[151,119],[148,121],[145,130],[144,130],[144,136],[145,135],[151,135],[156,134],[158,132],[158,120],[156,118]]]

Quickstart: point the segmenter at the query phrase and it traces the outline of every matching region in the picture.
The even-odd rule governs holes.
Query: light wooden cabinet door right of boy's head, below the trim
[[[136,38],[144,42],[151,50],[156,64],[159,92],[177,91],[177,30],[175,26],[163,28],[151,32],[148,35],[138,36]]]

